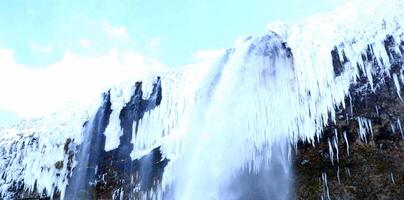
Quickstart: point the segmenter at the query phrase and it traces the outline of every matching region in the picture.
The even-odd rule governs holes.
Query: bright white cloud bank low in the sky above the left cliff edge
[[[21,117],[48,114],[69,102],[89,105],[112,85],[163,68],[132,51],[112,50],[96,57],[66,52],[61,60],[40,69],[17,64],[11,50],[0,49],[0,57],[0,110]]]

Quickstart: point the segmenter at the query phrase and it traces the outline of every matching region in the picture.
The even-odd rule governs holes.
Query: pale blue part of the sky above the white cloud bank
[[[15,66],[46,70],[69,53],[86,58],[115,51],[133,51],[167,67],[183,66],[195,62],[200,50],[232,47],[239,36],[265,32],[270,21],[327,12],[342,1],[0,0],[0,49],[12,52],[10,62],[0,63],[0,73],[8,74]],[[24,82],[19,73],[12,74],[13,80]],[[21,91],[14,99],[26,98],[18,96],[23,88],[16,87]],[[11,104],[0,100],[0,126],[35,116]]]

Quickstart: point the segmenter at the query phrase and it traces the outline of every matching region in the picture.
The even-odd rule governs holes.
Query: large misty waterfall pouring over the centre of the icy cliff
[[[248,38],[213,70],[164,174],[173,178],[167,199],[290,198],[289,136],[299,114],[291,52],[275,34]],[[259,194],[264,185],[268,196]]]

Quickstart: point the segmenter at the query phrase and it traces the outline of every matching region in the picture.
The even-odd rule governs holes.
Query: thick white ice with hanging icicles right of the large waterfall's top
[[[349,85],[356,82],[359,70],[366,74],[373,87],[371,63],[362,61],[362,54],[368,45],[372,45],[377,62],[384,63],[381,64],[382,72],[389,73],[390,63],[384,40],[387,35],[396,41],[403,37],[402,10],[404,3],[401,0],[355,0],[331,13],[316,15],[301,22],[268,25],[269,30],[279,33],[291,47],[298,91],[302,96],[310,92],[313,99],[306,102],[307,107],[318,122],[326,124],[328,117],[324,113],[327,111],[330,111],[331,117],[334,116],[333,107],[343,102]],[[340,56],[343,51],[349,60],[344,66],[345,73],[336,79],[333,78],[330,55],[334,46],[338,47]],[[310,132],[320,134],[320,127],[315,133]],[[301,137],[310,140],[313,135]]]

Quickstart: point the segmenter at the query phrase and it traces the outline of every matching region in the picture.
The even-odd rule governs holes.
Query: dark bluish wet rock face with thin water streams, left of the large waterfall
[[[103,105],[99,108],[93,122],[86,122],[85,133],[90,134],[90,147],[82,145],[78,151],[78,160],[82,151],[89,155],[87,163],[78,164],[69,180],[65,199],[110,199],[121,195],[125,199],[139,199],[143,192],[150,191],[161,179],[163,169],[168,160],[162,158],[160,149],[156,148],[141,159],[132,160],[130,153],[132,131],[137,132],[139,121],[143,115],[160,105],[162,87],[160,77],[153,84],[147,99],[143,97],[142,83],[135,84],[135,91],[130,101],[120,111],[122,136],[118,148],[105,151],[105,129],[112,112],[110,94],[104,94]],[[135,130],[133,130],[135,129]],[[83,178],[84,177],[84,178]],[[134,190],[136,189],[136,190]]]

